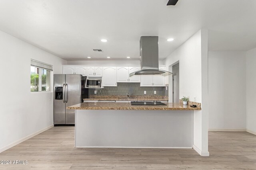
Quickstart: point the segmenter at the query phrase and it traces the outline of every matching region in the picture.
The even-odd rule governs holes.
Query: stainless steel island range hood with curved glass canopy
[[[158,64],[158,36],[140,37],[140,66],[141,70],[132,72],[134,75],[162,75],[169,76],[172,73],[159,70]]]

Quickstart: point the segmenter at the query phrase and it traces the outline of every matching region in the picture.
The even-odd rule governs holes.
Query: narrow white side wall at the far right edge
[[[256,48],[246,52],[246,129],[256,135]]]

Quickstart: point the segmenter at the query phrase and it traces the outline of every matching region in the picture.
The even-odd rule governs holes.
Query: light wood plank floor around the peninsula
[[[74,127],[53,127],[0,153],[0,160],[28,160],[0,169],[256,169],[256,135],[209,132],[210,156],[193,149],[74,148]]]

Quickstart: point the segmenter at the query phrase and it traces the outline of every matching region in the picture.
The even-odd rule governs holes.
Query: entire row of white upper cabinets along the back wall
[[[159,69],[165,70],[165,66],[160,66]],[[130,73],[138,70],[140,70],[140,66],[63,66],[63,74],[82,74],[83,76],[89,77],[102,77],[102,86],[117,86],[117,82],[140,82],[140,86],[165,86],[165,76],[129,76]]]

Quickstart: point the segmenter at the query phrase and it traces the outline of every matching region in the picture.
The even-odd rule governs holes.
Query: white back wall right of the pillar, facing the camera
[[[209,51],[208,74],[209,131],[245,131],[246,52]]]

